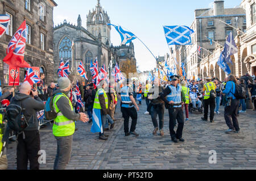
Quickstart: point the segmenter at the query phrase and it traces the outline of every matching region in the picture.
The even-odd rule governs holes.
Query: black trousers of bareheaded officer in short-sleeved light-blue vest
[[[125,119],[123,122],[123,125],[125,127],[125,133],[129,133],[129,119],[131,117],[131,128],[130,132],[134,132],[137,125],[137,111],[135,110],[135,107],[132,108],[126,108],[122,107],[122,113],[123,118]]]

